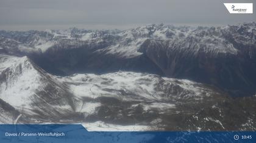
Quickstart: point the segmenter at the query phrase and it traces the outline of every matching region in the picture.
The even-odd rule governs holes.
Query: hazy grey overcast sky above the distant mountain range
[[[256,0],[0,0],[0,30],[130,28],[160,23],[226,25],[256,21],[255,13],[229,14],[224,2],[255,4]]]

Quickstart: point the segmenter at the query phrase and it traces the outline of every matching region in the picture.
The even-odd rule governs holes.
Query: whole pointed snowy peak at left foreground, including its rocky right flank
[[[73,113],[68,87],[33,64],[26,56],[0,55],[0,98],[23,116],[60,119]]]

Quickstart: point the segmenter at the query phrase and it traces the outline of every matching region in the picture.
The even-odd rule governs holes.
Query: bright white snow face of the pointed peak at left
[[[41,83],[38,82],[40,75],[27,57],[10,58],[1,55],[1,63],[2,76],[5,76],[5,82],[1,83],[0,88],[1,99],[10,105],[26,107],[29,95],[33,95],[35,89],[41,89]]]

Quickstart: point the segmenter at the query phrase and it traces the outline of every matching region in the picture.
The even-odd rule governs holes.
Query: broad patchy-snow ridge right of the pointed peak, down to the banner
[[[90,130],[255,130],[255,97],[232,99],[210,85],[126,71],[59,79]]]

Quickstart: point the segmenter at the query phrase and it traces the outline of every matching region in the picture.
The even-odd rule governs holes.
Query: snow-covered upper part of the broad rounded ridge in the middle
[[[187,98],[192,96],[194,99],[201,99],[210,96],[211,92],[213,93],[213,90],[200,87],[200,84],[196,82],[127,71],[103,75],[78,74],[60,78],[60,80],[69,84],[71,90],[77,96],[90,98],[110,96],[119,98],[122,101],[141,101],[142,99],[166,101],[169,99],[166,98],[166,93],[163,90],[171,86],[178,86],[181,91],[186,91]],[[207,95],[202,94],[204,92],[207,92]],[[180,95],[175,93],[174,95],[169,95],[169,98],[172,98],[172,96],[173,98],[185,98],[182,97],[182,94],[183,92],[180,92]]]

